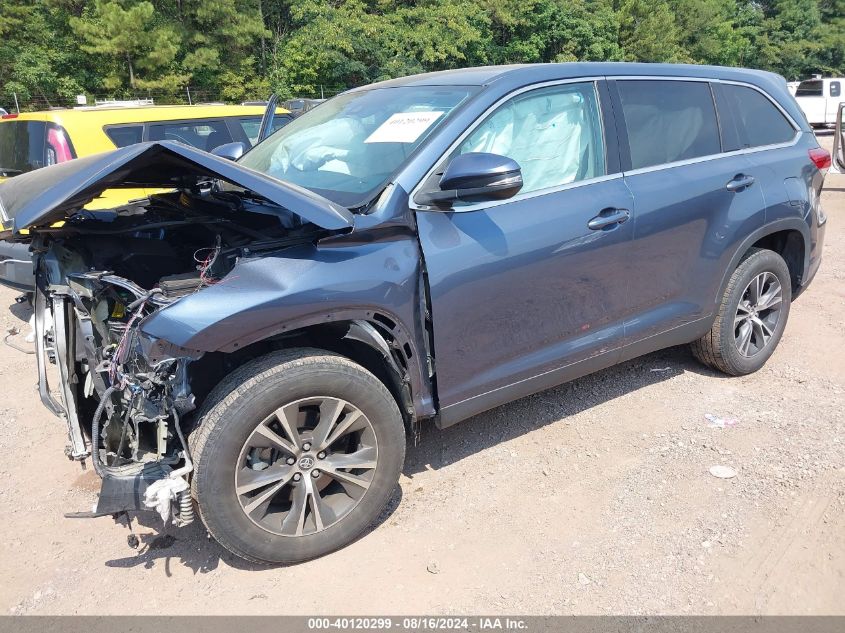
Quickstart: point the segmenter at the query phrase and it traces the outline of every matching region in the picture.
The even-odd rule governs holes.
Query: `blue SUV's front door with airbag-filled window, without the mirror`
[[[513,158],[524,180],[509,200],[416,207],[444,424],[619,357],[632,199],[612,119],[603,125],[602,85],[519,91],[421,186],[433,189],[449,159],[466,152]]]

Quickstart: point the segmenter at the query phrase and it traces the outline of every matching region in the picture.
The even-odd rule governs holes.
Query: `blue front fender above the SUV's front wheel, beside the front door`
[[[419,250],[412,235],[385,233],[241,259],[220,282],[148,316],[141,330],[190,350],[233,352],[310,325],[380,314],[395,324],[397,343],[409,346],[415,405],[428,410]]]

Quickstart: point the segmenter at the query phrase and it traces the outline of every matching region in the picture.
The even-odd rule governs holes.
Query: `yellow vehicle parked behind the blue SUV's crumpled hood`
[[[264,110],[263,105],[133,104],[3,114],[0,116],[0,181],[143,141],[179,141],[209,152],[233,142],[251,147],[258,139]],[[291,119],[288,110],[277,109],[273,131]],[[150,193],[153,190],[106,191],[85,208],[114,208]],[[32,289],[32,262],[25,245],[0,242],[0,284],[25,291]]]

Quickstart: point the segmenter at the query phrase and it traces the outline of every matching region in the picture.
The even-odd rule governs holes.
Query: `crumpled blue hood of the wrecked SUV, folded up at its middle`
[[[322,228],[353,226],[349,209],[322,196],[173,141],[130,145],[10,178],[0,183],[0,217],[16,234],[64,220],[106,189],[181,188],[210,178],[249,189]]]

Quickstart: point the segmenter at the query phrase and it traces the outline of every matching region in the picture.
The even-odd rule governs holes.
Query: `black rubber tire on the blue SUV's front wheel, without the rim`
[[[239,501],[239,460],[262,420],[316,396],[345,400],[363,413],[377,441],[377,465],[357,505],[336,523],[300,536],[274,534],[249,518]],[[246,560],[297,563],[348,545],[378,518],[402,470],[405,428],[396,401],[372,373],[343,356],[303,348],[267,354],[224,379],[207,398],[191,444],[193,495],[209,533]]]

